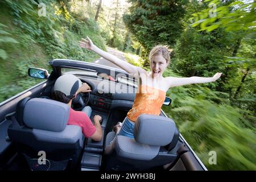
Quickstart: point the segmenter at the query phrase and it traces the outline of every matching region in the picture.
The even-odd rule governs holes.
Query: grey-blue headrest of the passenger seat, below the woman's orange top
[[[176,126],[172,119],[160,115],[139,115],[134,126],[134,139],[152,146],[166,146],[172,142]]]

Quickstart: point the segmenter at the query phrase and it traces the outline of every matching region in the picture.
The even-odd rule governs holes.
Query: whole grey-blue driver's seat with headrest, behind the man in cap
[[[62,102],[29,97],[18,102],[8,135],[31,170],[79,167],[84,135],[81,127],[67,125],[68,118],[69,106]],[[42,151],[47,167],[35,160],[42,157]]]

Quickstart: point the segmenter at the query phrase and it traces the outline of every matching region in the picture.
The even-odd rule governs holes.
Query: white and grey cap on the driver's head
[[[63,92],[66,96],[71,96],[80,88],[82,82],[75,75],[65,74],[57,78],[53,91]]]

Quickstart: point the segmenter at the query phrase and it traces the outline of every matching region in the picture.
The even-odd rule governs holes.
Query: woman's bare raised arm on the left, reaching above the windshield
[[[118,65],[118,67],[121,67],[127,73],[131,73],[131,74],[138,73],[138,75],[141,73],[147,73],[144,69],[142,69],[140,67],[136,67],[134,65],[131,65],[130,63],[127,63],[126,61],[123,61],[123,60],[119,59],[118,57],[98,48],[97,46],[95,46],[93,44],[92,40],[90,40],[88,38],[88,36],[86,36],[86,39],[82,39],[82,41],[79,41],[79,45],[82,48],[86,48],[90,51],[96,52],[98,55],[104,57],[106,60],[109,60],[110,62],[114,63],[115,65]]]

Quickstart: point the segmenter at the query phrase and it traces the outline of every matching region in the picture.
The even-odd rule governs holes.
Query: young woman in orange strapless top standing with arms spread
[[[79,42],[82,48],[98,53],[106,60],[118,65],[126,72],[133,75],[138,80],[138,91],[135,96],[132,109],[127,113],[127,117],[122,123],[118,135],[133,137],[134,123],[141,114],[159,115],[161,107],[166,98],[166,92],[169,88],[188,84],[201,84],[216,81],[222,73],[216,73],[213,77],[163,77],[163,72],[170,64],[170,52],[165,46],[156,46],[151,49],[149,60],[150,70],[148,73],[143,68],[136,67],[119,59],[118,57],[102,51],[95,46],[87,36]]]

